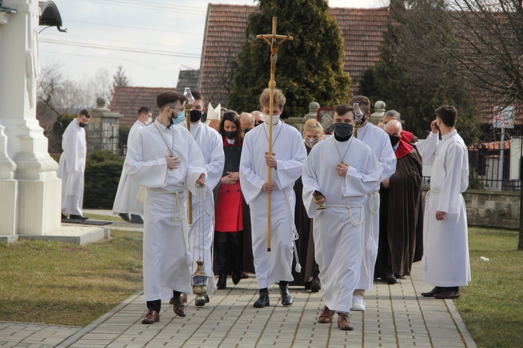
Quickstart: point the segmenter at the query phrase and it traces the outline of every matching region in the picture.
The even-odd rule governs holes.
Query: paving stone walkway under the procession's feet
[[[452,300],[419,296],[431,288],[419,264],[396,285],[375,283],[366,294],[367,310],[351,312],[354,331],[317,323],[321,291],[291,287],[294,304],[283,307],[274,285],[271,305],[257,309],[253,275],[236,286],[229,278],[227,286],[204,307],[190,296],[185,318],[162,303],[160,321],[152,325],[140,322],[142,294],[85,328],[0,322],[0,347],[476,347]]]

